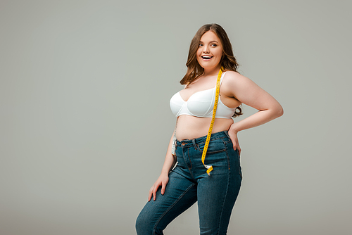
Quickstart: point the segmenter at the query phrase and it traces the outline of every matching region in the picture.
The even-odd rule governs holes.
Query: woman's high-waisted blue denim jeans
[[[156,201],[149,201],[139,213],[137,234],[163,234],[163,229],[182,212],[198,201],[201,234],[226,234],[230,215],[241,186],[238,151],[234,151],[225,132],[211,135],[206,165],[213,165],[210,176],[201,162],[206,136],[177,141],[177,165],[169,174],[169,182]]]

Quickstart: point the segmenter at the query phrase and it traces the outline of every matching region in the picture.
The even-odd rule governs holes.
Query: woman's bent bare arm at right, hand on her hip
[[[234,149],[239,148],[237,132],[263,125],[266,122],[279,118],[284,114],[282,106],[268,92],[261,89],[248,77],[237,72],[228,72],[226,89],[231,91],[235,99],[258,110],[244,120],[234,122],[229,129],[229,135]],[[241,148],[239,148],[241,152]]]

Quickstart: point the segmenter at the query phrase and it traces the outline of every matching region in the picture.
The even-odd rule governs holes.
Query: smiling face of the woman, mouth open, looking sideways
[[[208,31],[201,37],[196,58],[205,70],[220,67],[222,44],[213,31]]]

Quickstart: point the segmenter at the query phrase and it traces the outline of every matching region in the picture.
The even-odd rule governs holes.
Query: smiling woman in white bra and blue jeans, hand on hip
[[[148,203],[137,218],[139,235],[163,234],[163,229],[196,201],[201,234],[226,234],[242,179],[237,132],[283,114],[270,94],[237,72],[230,40],[220,25],[203,25],[196,32],[186,65],[187,73],[180,81],[185,87],[170,100],[177,125],[161,175],[149,190]],[[218,75],[220,96],[203,163]],[[232,116],[241,115],[241,103],[256,108],[258,113],[234,122]],[[210,165],[213,170],[207,174]]]

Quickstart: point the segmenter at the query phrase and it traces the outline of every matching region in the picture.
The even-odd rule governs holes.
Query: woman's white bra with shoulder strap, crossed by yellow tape
[[[222,72],[220,85],[226,72]],[[178,117],[180,115],[191,115],[199,118],[213,117],[213,107],[215,103],[216,86],[204,91],[198,91],[192,94],[187,101],[180,96],[180,91],[170,99],[170,108],[172,113]],[[229,108],[221,102],[219,98],[218,108],[215,118],[231,118],[236,108]]]

